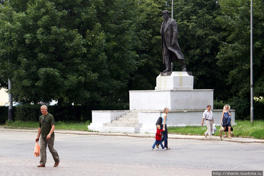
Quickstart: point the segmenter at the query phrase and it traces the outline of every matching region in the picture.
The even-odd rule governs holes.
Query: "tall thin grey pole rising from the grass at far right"
[[[250,93],[251,93],[251,108],[250,108],[250,120],[253,124],[254,113],[253,113],[253,15],[252,15],[252,0],[251,0],[251,17],[250,17]]]

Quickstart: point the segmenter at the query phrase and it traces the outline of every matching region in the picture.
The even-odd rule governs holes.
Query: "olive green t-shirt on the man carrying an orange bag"
[[[40,115],[39,117],[39,127],[41,128],[41,136],[47,137],[51,130],[51,125],[55,125],[55,120],[53,115],[48,113],[47,115]],[[54,132],[51,134],[51,137],[55,136]]]

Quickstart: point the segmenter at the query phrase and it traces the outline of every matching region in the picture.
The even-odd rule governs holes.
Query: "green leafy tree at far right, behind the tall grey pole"
[[[217,55],[229,70],[227,84],[234,96],[250,98],[250,1],[221,0],[219,22],[226,38]],[[253,1],[253,94],[264,96],[264,5]]]

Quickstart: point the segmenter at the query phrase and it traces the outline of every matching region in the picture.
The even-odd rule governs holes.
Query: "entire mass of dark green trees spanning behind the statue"
[[[153,90],[164,70],[165,0],[9,0],[0,5],[0,88],[16,101],[59,104],[129,101]],[[250,1],[174,0],[173,19],[194,89],[214,89],[216,106],[250,114]],[[263,118],[264,12],[253,1],[254,113]],[[179,63],[173,64],[180,71]]]

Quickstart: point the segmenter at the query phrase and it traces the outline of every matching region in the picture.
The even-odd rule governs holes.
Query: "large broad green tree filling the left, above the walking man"
[[[18,101],[91,103],[126,87],[143,61],[133,0],[10,0],[0,6],[0,75]]]

